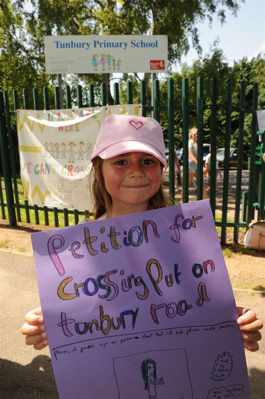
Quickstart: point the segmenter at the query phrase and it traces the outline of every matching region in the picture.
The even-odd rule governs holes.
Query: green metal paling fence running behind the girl
[[[204,110],[210,110],[210,144],[211,144],[211,161],[210,161],[210,205],[212,213],[215,217],[215,201],[216,201],[216,126],[217,126],[217,111],[223,110],[226,113],[225,125],[225,158],[224,158],[224,181],[223,181],[223,197],[222,197],[222,221],[216,221],[216,226],[221,226],[221,241],[226,242],[227,227],[234,227],[234,241],[238,242],[239,227],[247,227],[248,223],[253,218],[254,209],[259,209],[259,219],[264,219],[264,162],[259,161],[262,152],[265,148],[265,134],[263,134],[263,141],[259,146],[257,145],[257,119],[256,113],[258,103],[258,84],[253,85],[253,106],[252,108],[245,107],[245,81],[241,82],[239,93],[239,106],[232,106],[232,79],[228,79],[226,83],[226,103],[217,104],[217,79],[213,77],[210,85],[210,104],[204,104],[203,99],[203,79],[197,79],[197,101],[196,104],[189,104],[188,102],[188,79],[184,78],[182,81],[182,104],[176,105],[174,103],[174,81],[169,79],[167,82],[168,94],[167,105],[160,105],[160,91],[159,81],[154,81],[154,104],[147,105],[145,82],[141,81],[140,85],[140,102],[142,105],[142,115],[145,117],[147,113],[153,111],[154,118],[160,122],[160,115],[162,112],[167,112],[168,129],[169,129],[169,199],[171,204],[175,204],[175,185],[174,185],[174,113],[178,111],[182,114],[183,119],[183,202],[188,202],[188,115],[189,111],[197,111],[197,128],[198,128],[198,173],[197,173],[197,199],[202,199],[203,190],[203,115]],[[59,87],[55,87],[55,108],[59,109]],[[49,109],[48,89],[43,89],[43,98],[45,109]],[[16,225],[17,221],[21,221],[20,209],[26,211],[26,221],[30,223],[29,209],[34,210],[35,223],[39,224],[39,212],[44,213],[45,225],[49,225],[49,213],[54,214],[55,227],[59,227],[58,213],[63,213],[64,225],[69,225],[69,215],[74,214],[75,223],[78,223],[79,214],[84,211],[78,209],[59,209],[47,206],[29,205],[28,201],[24,203],[19,202],[18,185],[16,179],[16,165],[15,165],[15,148],[14,140],[11,130],[11,118],[16,117],[16,109],[19,109],[18,94],[13,90],[14,111],[9,109],[8,93],[7,91],[0,92],[0,146],[1,159],[4,174],[4,184],[6,191],[6,202],[3,199],[2,187],[0,188],[0,205],[2,210],[2,217],[6,218],[6,208],[8,210],[8,218],[11,226]],[[71,108],[70,87],[65,87],[65,99],[67,109]],[[132,82],[127,82],[127,104],[133,102]],[[28,109],[28,93],[23,91],[24,109]],[[39,109],[37,89],[33,89],[33,103],[34,109]],[[119,101],[119,86],[114,83],[114,104],[118,105]],[[82,103],[82,88],[77,87],[77,104],[78,107],[83,107]],[[106,85],[101,84],[101,105],[107,105]],[[94,103],[94,87],[89,85],[89,107],[95,107]],[[236,198],[235,198],[235,217],[234,221],[227,221],[228,213],[228,186],[229,186],[229,161],[230,161],[230,136],[231,136],[231,114],[232,112],[239,113],[239,136],[238,136],[238,153],[237,153],[237,179],[236,179]],[[244,118],[246,113],[252,114],[251,127],[251,155],[250,155],[250,171],[249,171],[249,190],[248,193],[242,194],[242,214],[241,221],[239,221],[240,203],[241,203],[241,178],[242,178],[242,158],[243,158],[243,131]],[[262,132],[259,132],[262,134]],[[259,135],[260,137],[260,135]],[[256,147],[258,149],[256,149]],[[260,156],[260,157],[259,157]],[[258,158],[258,159],[256,159]],[[260,162],[258,164],[257,162]],[[259,166],[257,166],[259,165]],[[259,193],[258,201],[255,202],[255,187],[257,184],[256,168],[259,167]],[[11,173],[10,173],[11,170]],[[13,186],[12,186],[13,178]],[[249,206],[247,207],[247,204]]]

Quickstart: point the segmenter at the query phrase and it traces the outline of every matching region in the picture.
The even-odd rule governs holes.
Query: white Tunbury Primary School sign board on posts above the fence
[[[46,73],[167,72],[166,35],[45,36]]]

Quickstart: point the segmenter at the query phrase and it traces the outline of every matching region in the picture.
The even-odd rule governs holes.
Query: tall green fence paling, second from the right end
[[[237,172],[236,172],[236,206],[234,221],[234,242],[238,243],[239,231],[239,212],[241,201],[241,182],[242,182],[242,164],[243,164],[243,137],[245,121],[245,81],[241,81],[239,93],[239,132],[238,132],[238,154],[237,154]]]

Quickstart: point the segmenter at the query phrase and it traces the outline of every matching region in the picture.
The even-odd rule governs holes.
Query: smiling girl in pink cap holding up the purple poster
[[[162,187],[167,164],[163,132],[155,119],[109,115],[101,124],[91,161],[94,220],[169,206]],[[245,348],[258,350],[261,320],[245,308],[238,308],[238,316]],[[41,308],[27,313],[25,321],[21,328],[25,343],[37,350],[45,348],[48,342]]]

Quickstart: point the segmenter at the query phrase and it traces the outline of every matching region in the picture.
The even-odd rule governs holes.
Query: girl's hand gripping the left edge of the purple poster
[[[25,337],[26,345],[33,345],[36,350],[41,350],[48,345],[45,326],[41,308],[28,312],[25,316],[25,324],[21,327],[21,332]]]

